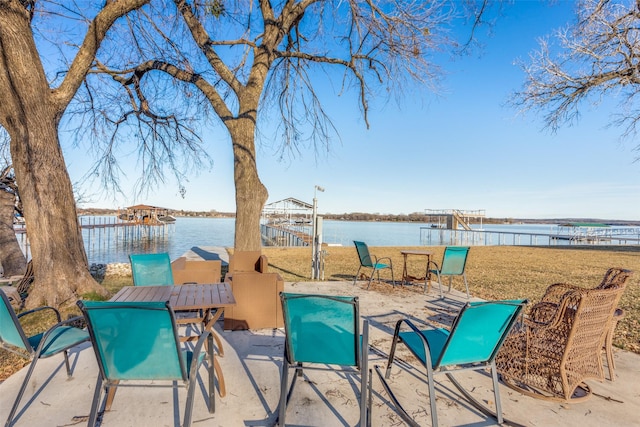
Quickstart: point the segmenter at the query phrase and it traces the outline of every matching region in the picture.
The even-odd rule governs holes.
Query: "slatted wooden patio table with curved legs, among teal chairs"
[[[213,339],[216,340],[220,356],[224,355],[222,342],[214,334],[213,325],[224,313],[226,307],[236,304],[236,300],[228,283],[213,284],[187,284],[175,286],[125,286],[109,301],[118,302],[142,302],[142,301],[169,301],[174,311],[202,310],[204,312],[203,331],[210,331]],[[180,341],[196,341],[197,335],[181,337]],[[213,346],[213,342],[209,343]],[[213,349],[210,349],[213,355]],[[213,367],[218,378],[220,387],[220,397],[227,393],[224,383],[224,375],[218,359],[213,357]],[[106,409],[111,407],[113,394],[116,387],[109,390],[107,396]]]

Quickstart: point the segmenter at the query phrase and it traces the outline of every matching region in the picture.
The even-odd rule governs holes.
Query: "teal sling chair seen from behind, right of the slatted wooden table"
[[[360,336],[358,298],[281,293],[280,299],[284,316],[285,348],[277,425],[285,425],[287,404],[293,394],[296,378],[302,376],[303,365],[305,369],[359,374],[360,425],[370,425],[369,324],[364,321]],[[309,366],[309,363],[316,365]],[[287,392],[291,368],[296,372]]]

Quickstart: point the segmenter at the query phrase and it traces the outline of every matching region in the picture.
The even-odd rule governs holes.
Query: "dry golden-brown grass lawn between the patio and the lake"
[[[391,257],[396,280],[402,274],[403,249],[431,250],[433,259],[442,259],[443,247],[371,247],[373,255]],[[285,281],[308,281],[311,275],[310,248],[264,249],[271,271],[282,274]],[[409,274],[424,275],[423,257],[409,257]],[[353,280],[358,269],[358,258],[353,247],[328,247],[325,258],[325,280]],[[571,283],[593,287],[600,283],[610,267],[635,271],[627,284],[620,306],[624,319],[618,324],[614,345],[640,353],[640,247],[520,247],[474,246],[469,252],[467,277],[472,295],[483,299],[528,298],[535,302],[553,283]],[[388,271],[382,279],[390,279]],[[112,293],[122,286],[131,285],[130,277],[107,277],[103,285]],[[386,285],[372,285],[377,291],[402,292],[411,298],[419,288],[393,289]],[[464,290],[460,279],[454,287]],[[66,316],[65,316],[66,317]],[[31,326],[29,326],[31,327]],[[0,350],[0,381],[28,363],[27,359]]]

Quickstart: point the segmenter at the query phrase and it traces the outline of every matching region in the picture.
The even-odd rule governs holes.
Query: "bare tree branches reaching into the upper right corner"
[[[611,123],[633,137],[640,122],[640,2],[581,0],[575,10],[574,24],[541,40],[523,64],[525,87],[513,103],[542,113],[555,131],[578,120],[585,102],[617,99]]]

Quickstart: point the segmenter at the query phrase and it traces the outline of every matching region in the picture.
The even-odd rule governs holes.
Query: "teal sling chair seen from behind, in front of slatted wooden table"
[[[204,332],[193,351],[181,348],[175,315],[168,302],[78,301],[89,328],[100,372],[89,414],[95,426],[104,387],[106,406],[119,386],[185,387],[184,427],[191,425],[198,369],[208,356],[209,413],[215,411],[213,342]],[[205,340],[209,351],[203,351]],[[154,383],[140,383],[151,381]],[[155,381],[168,382],[158,384]]]

